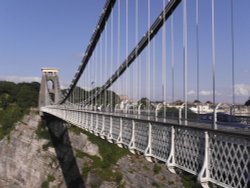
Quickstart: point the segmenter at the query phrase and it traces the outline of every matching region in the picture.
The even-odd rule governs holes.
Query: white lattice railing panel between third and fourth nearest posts
[[[135,148],[144,152],[148,145],[148,123],[135,122]]]

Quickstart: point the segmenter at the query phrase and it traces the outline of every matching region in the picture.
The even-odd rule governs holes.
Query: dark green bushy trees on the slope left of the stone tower
[[[40,84],[0,81],[0,140],[9,135],[14,125],[30,107],[37,107]]]

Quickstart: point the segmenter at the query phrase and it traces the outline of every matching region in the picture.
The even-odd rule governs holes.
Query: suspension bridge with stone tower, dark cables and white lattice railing
[[[223,1],[226,39],[216,33],[218,3],[107,0],[69,87],[60,89],[58,69],[42,69],[41,114],[196,175],[203,187],[249,187],[249,118],[236,116],[238,1]],[[230,88],[227,104],[219,84]],[[206,95],[212,102],[204,114]]]

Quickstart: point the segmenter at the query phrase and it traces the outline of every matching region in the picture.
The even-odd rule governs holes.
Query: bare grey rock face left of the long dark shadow
[[[52,168],[53,153],[42,151],[46,140],[35,135],[40,117],[25,116],[17,123],[9,138],[0,142],[0,187],[39,187]]]

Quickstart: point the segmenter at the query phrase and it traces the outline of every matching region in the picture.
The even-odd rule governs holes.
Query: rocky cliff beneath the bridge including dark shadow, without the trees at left
[[[95,137],[93,144],[92,135],[71,131],[59,120],[47,121],[52,141],[38,139],[40,121],[31,113],[0,141],[1,188],[183,187],[181,178],[167,171],[165,164],[149,163],[137,155],[122,157],[122,151],[115,152],[106,141]],[[121,156],[113,163],[112,152]]]

